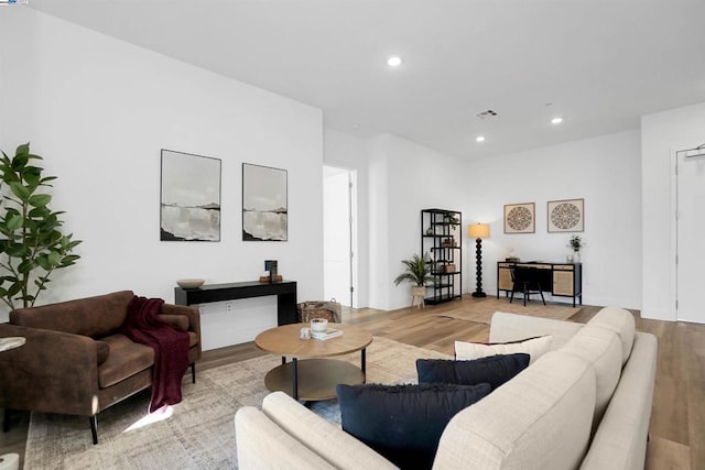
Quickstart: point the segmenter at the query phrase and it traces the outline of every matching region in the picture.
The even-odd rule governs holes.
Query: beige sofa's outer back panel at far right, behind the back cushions
[[[629,361],[581,469],[643,469],[653,405],[658,342],[636,332]]]

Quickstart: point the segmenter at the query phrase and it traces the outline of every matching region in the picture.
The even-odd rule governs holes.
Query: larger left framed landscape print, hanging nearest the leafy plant
[[[220,241],[220,159],[162,149],[161,241]]]

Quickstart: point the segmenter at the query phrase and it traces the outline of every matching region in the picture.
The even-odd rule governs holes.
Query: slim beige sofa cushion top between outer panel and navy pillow
[[[262,411],[279,427],[338,469],[397,469],[389,460],[283,392],[273,392]]]

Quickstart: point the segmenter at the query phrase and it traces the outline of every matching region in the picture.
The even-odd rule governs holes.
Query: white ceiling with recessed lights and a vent
[[[465,159],[638,129],[642,114],[705,101],[705,0],[30,7],[321,108],[328,128]],[[392,54],[404,61],[397,69]],[[488,109],[498,116],[476,117]]]

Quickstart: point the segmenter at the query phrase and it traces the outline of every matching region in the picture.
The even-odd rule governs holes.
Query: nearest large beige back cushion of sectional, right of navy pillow
[[[560,351],[541,357],[446,426],[435,469],[577,469],[588,448],[595,371]]]

